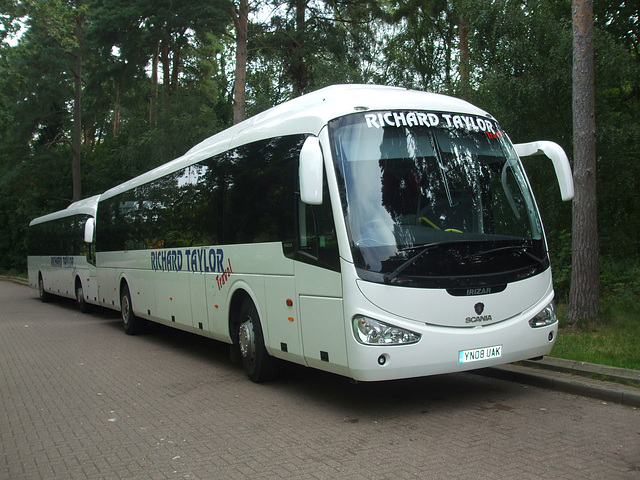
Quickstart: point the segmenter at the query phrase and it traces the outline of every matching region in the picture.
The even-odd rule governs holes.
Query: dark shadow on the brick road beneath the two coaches
[[[78,315],[80,321],[98,320],[102,328],[120,330],[122,335],[126,335],[119,312],[95,308],[83,315],[73,300],[57,298],[52,303],[52,307]],[[198,364],[215,365],[217,369],[224,370],[225,375],[237,375],[239,381],[248,382],[245,387],[254,389],[255,395],[259,395],[261,389],[275,389],[292,398],[315,402],[322,408],[339,407],[372,418],[394,409],[428,413],[429,409],[441,409],[444,406],[468,408],[474,403],[487,405],[487,398],[493,399],[491,402],[495,405],[502,405],[500,402],[507,401],[509,397],[524,394],[519,386],[469,372],[384,382],[354,382],[339,375],[290,363],[282,363],[276,380],[258,385],[246,378],[240,364],[230,360],[229,345],[225,343],[156,323],[150,323],[144,334],[130,340],[139,342],[139,348],[171,351],[190,357]],[[202,367],[198,365],[196,368]],[[207,377],[206,371],[202,374]],[[206,378],[206,381],[211,379]]]

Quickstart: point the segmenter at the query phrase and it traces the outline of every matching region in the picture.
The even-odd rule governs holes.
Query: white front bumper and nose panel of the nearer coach
[[[349,272],[352,278],[347,280]],[[394,315],[365,298],[358,287],[362,282],[356,279],[353,268],[343,269],[343,280],[349,376],[355,380],[420,377],[501,365],[547,355],[555,342],[557,323],[541,328],[531,328],[529,325],[529,320],[553,300],[549,270],[517,282],[519,285],[513,286],[509,293],[505,291],[487,296],[453,297],[437,289],[414,289],[412,294],[406,291],[410,289],[398,287],[384,290],[384,295],[375,297],[378,304],[386,305],[387,308],[394,305],[395,311],[402,311],[410,318]],[[526,302],[518,296],[518,293],[527,289],[539,292],[534,294],[536,300]],[[445,299],[444,295],[448,298]],[[410,301],[411,297],[413,305],[403,304]],[[469,305],[470,312],[474,315],[473,305],[477,302],[495,305],[496,311],[504,312],[507,318],[484,326],[462,326],[465,325],[465,317],[469,316]],[[356,314],[411,330],[422,337],[412,345],[363,345],[355,339],[351,328],[351,319]],[[455,317],[460,326],[446,326],[447,322],[454,323],[442,320],[448,317]],[[445,326],[430,324],[432,319],[441,321]],[[501,347],[502,354],[499,358],[472,363],[458,362],[460,351],[494,346]],[[381,355],[386,357],[382,366],[378,363]]]

